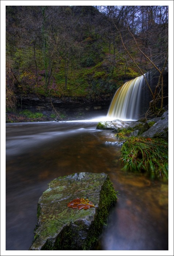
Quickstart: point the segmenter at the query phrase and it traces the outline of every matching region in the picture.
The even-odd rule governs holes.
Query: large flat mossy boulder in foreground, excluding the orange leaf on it
[[[88,199],[95,207],[69,208],[68,203],[76,198]],[[30,250],[92,250],[116,200],[117,192],[105,173],[55,178],[39,198]]]

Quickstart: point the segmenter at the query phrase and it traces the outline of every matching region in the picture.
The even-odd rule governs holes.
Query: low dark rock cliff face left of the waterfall
[[[18,110],[30,110],[50,115],[56,112],[60,115],[75,118],[92,118],[93,116],[106,115],[111,103],[111,97],[102,97],[97,100],[86,98],[49,98],[37,97],[35,95],[18,95]]]

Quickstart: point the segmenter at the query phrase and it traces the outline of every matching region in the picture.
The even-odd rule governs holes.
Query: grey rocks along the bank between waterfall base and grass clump
[[[151,124],[153,124],[151,126]],[[97,129],[111,129],[119,132],[123,128],[134,128],[130,136],[142,136],[145,138],[161,138],[168,140],[169,111],[163,113],[161,117],[156,117],[143,123],[141,121],[124,122],[116,119],[113,121],[103,121],[97,124]],[[142,132],[143,131],[143,132]]]

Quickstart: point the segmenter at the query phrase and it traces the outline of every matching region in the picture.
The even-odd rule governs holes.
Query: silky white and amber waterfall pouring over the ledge
[[[147,74],[144,76],[148,77]],[[132,79],[118,88],[111,101],[107,117],[126,121],[140,119],[149,99],[144,76]]]

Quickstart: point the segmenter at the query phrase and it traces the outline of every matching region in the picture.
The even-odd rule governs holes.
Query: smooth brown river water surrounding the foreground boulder
[[[121,170],[114,133],[97,121],[6,124],[6,250],[29,250],[48,183],[107,173],[119,192],[96,250],[168,250],[168,184]]]

